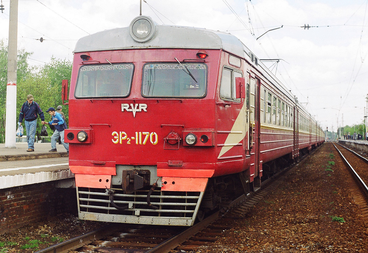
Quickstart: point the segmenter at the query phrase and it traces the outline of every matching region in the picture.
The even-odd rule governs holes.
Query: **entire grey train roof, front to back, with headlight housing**
[[[145,38],[139,38],[139,34],[137,37],[133,32],[139,30],[136,24],[141,20],[145,22],[145,25],[151,26],[151,31]],[[255,60],[256,57],[248,47],[230,33],[205,28],[158,25],[150,17],[138,16],[133,19],[129,27],[109,29],[79,39],[75,45],[74,53],[154,48],[222,49],[253,64],[264,78],[275,85],[290,100],[297,103],[296,97],[282,82],[260,60]],[[298,106],[307,112],[301,104]]]

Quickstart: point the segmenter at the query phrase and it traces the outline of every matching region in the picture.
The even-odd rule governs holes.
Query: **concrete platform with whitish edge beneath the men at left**
[[[0,143],[0,189],[61,179],[73,180],[62,181],[60,187],[73,187],[74,174],[63,145],[56,145],[58,152],[49,152],[51,143],[35,143],[34,152],[26,152],[27,143],[16,143],[16,147]]]

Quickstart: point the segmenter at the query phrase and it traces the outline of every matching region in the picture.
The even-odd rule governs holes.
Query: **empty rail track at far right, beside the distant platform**
[[[353,150],[338,145],[340,149],[333,144],[351,175],[351,177],[346,178],[346,181],[351,185],[349,190],[353,195],[354,202],[361,210],[362,219],[368,222],[368,160]]]

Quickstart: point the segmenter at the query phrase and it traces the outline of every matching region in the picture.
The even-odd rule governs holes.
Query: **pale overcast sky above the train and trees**
[[[158,24],[195,26],[237,36],[265,63],[325,129],[364,120],[368,93],[368,0],[146,0],[142,14]],[[9,0],[3,0],[0,38],[7,44]],[[240,17],[240,20],[230,10]],[[77,40],[129,26],[139,0],[19,0],[18,49],[29,63],[53,56],[72,60]],[[304,29],[304,25],[312,26]],[[269,31],[256,40],[266,31]],[[303,26],[303,27],[301,27]],[[318,26],[318,27],[317,27]],[[45,39],[42,43],[40,38]]]

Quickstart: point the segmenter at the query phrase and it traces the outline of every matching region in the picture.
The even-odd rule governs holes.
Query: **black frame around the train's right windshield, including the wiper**
[[[144,95],[143,94],[143,82],[144,82],[144,68],[147,64],[176,64],[176,65],[180,65],[179,63],[177,62],[146,62],[143,67],[142,67],[142,83],[141,83],[141,95],[142,97],[146,97],[146,98],[164,98],[164,99],[202,99],[204,97],[207,96],[207,89],[208,89],[208,65],[204,62],[184,62],[184,63],[181,63],[183,65],[185,64],[204,64],[205,67],[206,67],[206,74],[205,74],[205,87],[204,87],[204,95],[202,96],[196,96],[196,97],[193,97],[193,96],[147,96],[147,95]],[[183,70],[181,70],[183,71]],[[192,79],[192,77],[187,73],[187,75],[189,76],[190,79]]]

